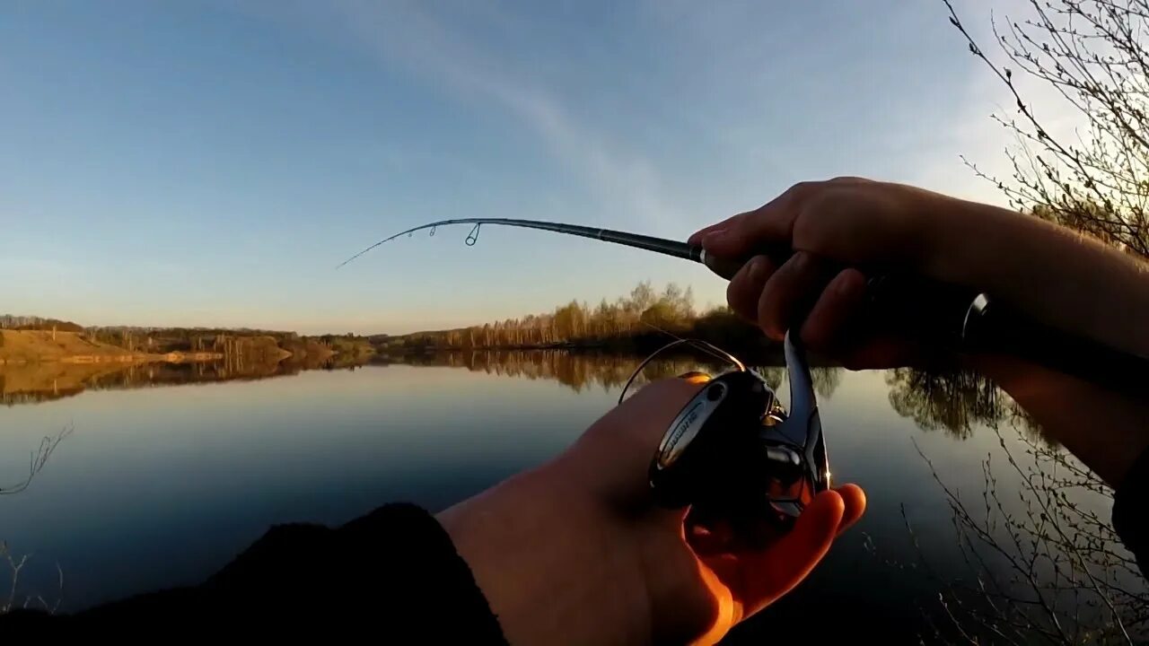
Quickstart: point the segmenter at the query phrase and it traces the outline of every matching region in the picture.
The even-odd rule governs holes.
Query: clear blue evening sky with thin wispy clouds
[[[976,36],[990,6],[955,1]],[[1004,7],[1004,10],[1003,10]],[[685,239],[807,179],[1003,203],[1004,89],[940,0],[14,0],[0,313],[402,333],[701,266],[450,217]]]

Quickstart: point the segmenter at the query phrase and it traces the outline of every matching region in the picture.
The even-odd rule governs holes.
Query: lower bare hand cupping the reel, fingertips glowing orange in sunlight
[[[820,493],[794,528],[751,547],[655,505],[647,469],[696,380],[647,385],[558,459],[440,521],[512,644],[710,644],[802,582],[865,508]]]

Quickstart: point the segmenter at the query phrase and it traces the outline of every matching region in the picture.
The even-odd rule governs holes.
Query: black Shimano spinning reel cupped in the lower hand
[[[787,333],[788,412],[762,377],[722,354],[737,369],[707,382],[670,423],[650,463],[650,487],[665,507],[786,529],[830,487],[804,352]]]

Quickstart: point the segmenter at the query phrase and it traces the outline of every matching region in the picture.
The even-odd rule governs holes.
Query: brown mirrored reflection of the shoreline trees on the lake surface
[[[125,390],[209,382],[253,380],[303,370],[352,369],[368,362],[376,366],[404,364],[463,368],[472,372],[554,380],[574,392],[601,389],[618,392],[642,356],[617,353],[540,351],[472,351],[439,354],[407,354],[370,357],[287,357],[272,361],[205,361],[187,363],[28,363],[0,364],[0,402],[7,406],[36,403],[72,397],[85,390]],[[777,357],[780,360],[780,357]],[[730,366],[708,355],[666,355],[650,362],[637,384],[673,377],[691,370],[720,374]],[[754,366],[754,371],[774,390],[786,382],[784,366]],[[833,397],[842,382],[843,368],[810,369],[818,397]],[[894,410],[927,431],[942,430],[965,439],[979,425],[1025,422],[1024,413],[993,383],[970,371],[930,372],[910,368],[889,370],[885,376]]]

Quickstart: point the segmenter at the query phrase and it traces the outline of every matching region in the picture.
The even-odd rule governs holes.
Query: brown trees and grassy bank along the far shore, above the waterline
[[[674,338],[702,339],[734,351],[776,344],[726,307],[699,313],[691,289],[656,291],[639,283],[595,307],[570,301],[552,312],[408,334],[321,334],[223,328],[90,326],[37,316],[0,316],[0,364],[129,363],[237,360],[315,362],[333,356],[395,355],[469,349],[655,349]]]

